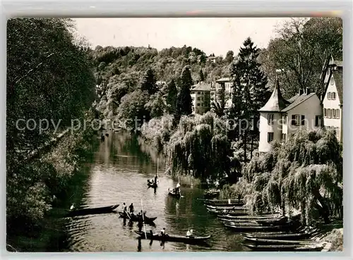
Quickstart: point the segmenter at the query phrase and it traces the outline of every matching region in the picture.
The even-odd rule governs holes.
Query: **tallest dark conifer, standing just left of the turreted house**
[[[244,47],[240,48],[237,61],[232,68],[234,92],[230,115],[239,123],[241,130],[237,135],[243,141],[244,161],[246,161],[248,137],[251,136],[251,144],[253,144],[253,138],[258,137],[256,124],[251,120],[254,122],[258,117],[258,109],[267,101],[269,92],[266,87],[267,78],[260,70],[261,64],[257,61],[260,49],[254,46],[250,38],[247,38],[243,44]],[[252,152],[253,146],[251,156]]]

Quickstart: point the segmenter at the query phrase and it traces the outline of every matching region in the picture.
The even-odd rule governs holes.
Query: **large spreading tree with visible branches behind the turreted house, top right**
[[[342,19],[292,19],[277,34],[261,55],[265,73],[274,81],[280,70],[286,98],[305,87],[321,94],[330,56],[342,60]]]

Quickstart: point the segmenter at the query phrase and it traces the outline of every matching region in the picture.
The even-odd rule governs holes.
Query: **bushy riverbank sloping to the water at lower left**
[[[41,197],[31,193],[23,194],[23,187],[9,186],[9,182],[16,182],[16,179],[8,180],[8,190],[13,192],[16,189],[16,193],[13,192],[7,197],[8,202],[18,201],[21,194],[25,196],[22,202],[18,203],[18,211],[21,206],[24,208],[22,215],[15,215],[16,211],[10,208],[12,214],[7,216],[6,244],[9,251],[51,252],[63,247],[61,243],[66,241],[66,220],[62,216],[73,202],[80,202],[80,189],[88,177],[86,163],[92,161],[92,151],[95,151],[98,141],[92,130],[68,134],[61,137],[47,153],[40,156],[40,159],[32,159],[28,168],[40,176],[37,184],[40,183],[43,190],[35,190],[34,193],[42,191]],[[20,171],[28,168],[19,168],[18,172],[30,174],[28,171]],[[24,186],[27,185],[32,185],[29,188],[36,187],[35,183],[27,182]],[[42,205],[42,208],[38,208],[38,205]],[[36,210],[42,214],[38,214]]]

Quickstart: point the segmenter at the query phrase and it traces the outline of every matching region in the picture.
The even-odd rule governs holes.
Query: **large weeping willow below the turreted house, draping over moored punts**
[[[335,130],[296,132],[283,145],[274,144],[264,156],[244,168],[244,194],[251,212],[301,213],[303,223],[319,216],[342,218],[342,148]]]

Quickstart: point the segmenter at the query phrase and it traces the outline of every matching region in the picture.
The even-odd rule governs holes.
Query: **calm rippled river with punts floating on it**
[[[147,179],[157,172],[159,157],[159,186],[156,192],[148,188]],[[208,214],[205,206],[196,198],[202,197],[203,190],[181,182],[183,197],[175,199],[168,195],[168,187],[175,187],[177,181],[164,174],[165,161],[162,156],[150,149],[138,137],[126,132],[109,132],[109,137],[100,143],[95,152],[95,160],[88,167],[89,177],[83,185],[79,207],[98,207],[133,203],[135,211],[141,206],[150,217],[157,216],[155,227],[159,232],[166,228],[167,233],[185,235],[192,228],[194,235],[212,235],[208,245],[188,245],[177,242],[138,240],[133,230],[124,223],[119,214],[76,216],[66,218],[67,248],[69,252],[174,252],[174,251],[246,251],[240,244],[240,235],[225,228],[215,216]],[[142,205],[141,205],[142,199]]]

